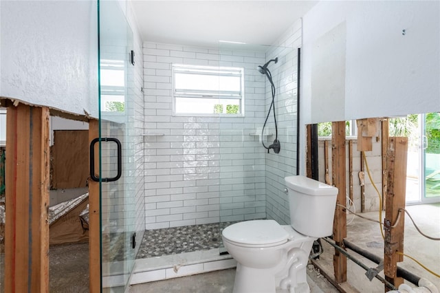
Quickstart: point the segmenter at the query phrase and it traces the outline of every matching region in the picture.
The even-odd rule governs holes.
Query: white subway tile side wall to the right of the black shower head
[[[285,190],[284,178],[296,175],[296,136],[298,129],[298,47],[302,45],[302,21],[296,21],[267,52],[267,60],[278,56],[278,63],[271,65],[276,86],[276,117],[278,139],[281,151],[278,155],[266,154],[266,213],[268,219],[275,219],[280,224],[289,224],[289,199]],[[272,96],[266,85],[266,108]],[[273,120],[271,120],[273,121]],[[274,123],[269,126],[274,129]]]

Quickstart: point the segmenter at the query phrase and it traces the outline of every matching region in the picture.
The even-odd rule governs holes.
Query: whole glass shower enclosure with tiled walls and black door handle
[[[284,177],[297,174],[300,25],[274,45],[222,42],[208,48],[145,41],[141,106],[133,96],[133,33],[124,13],[118,3],[101,1],[100,15],[100,136],[118,138],[122,146],[121,179],[101,184],[104,291],[124,292],[129,283],[177,276],[179,263],[194,261],[191,253],[198,253],[195,261],[203,261],[200,251],[218,256],[221,230],[233,222],[267,218],[287,224]],[[276,90],[276,129],[272,114],[265,123],[272,85],[258,70],[274,58],[267,67]],[[233,85],[217,92],[200,89],[200,83],[190,83],[194,77]],[[112,81],[106,84],[106,78]],[[207,103],[212,112],[182,109],[182,101]],[[272,144],[276,131],[281,151],[267,153],[263,142]],[[118,173],[117,154],[117,144],[101,142],[102,177]],[[136,184],[140,173],[143,184]],[[139,225],[144,237],[134,243]],[[180,256],[179,263],[173,256]],[[137,272],[148,268],[137,274],[135,263]]]

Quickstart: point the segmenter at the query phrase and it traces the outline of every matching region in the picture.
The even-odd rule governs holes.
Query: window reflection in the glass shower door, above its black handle
[[[102,60],[100,70],[101,111],[124,112],[125,72],[124,61]]]

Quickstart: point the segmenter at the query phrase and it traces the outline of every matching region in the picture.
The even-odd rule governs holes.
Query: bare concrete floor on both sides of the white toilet
[[[406,210],[415,220],[419,229],[432,237],[440,237],[440,204],[423,204],[417,206],[407,206]],[[371,212],[362,214],[370,219],[379,219],[379,212]],[[385,213],[382,213],[382,218]],[[384,240],[380,233],[380,226],[377,223],[347,215],[347,240],[355,243],[357,246],[368,250],[383,257]],[[333,270],[333,254],[334,249],[329,244],[322,241],[325,252],[320,256],[319,263],[325,263],[327,267]],[[359,254],[349,250],[349,253],[362,263],[375,268],[377,264],[361,257]],[[418,259],[426,265],[430,270],[437,274],[440,273],[440,245],[438,241],[433,241],[422,237],[415,229],[408,216],[405,217],[405,241],[404,253]],[[420,276],[430,280],[437,288],[440,288],[440,279],[430,274],[417,263],[404,257],[404,261],[399,266],[412,272],[416,276]],[[210,272],[207,274],[198,274],[194,276],[186,276],[177,279],[165,281],[156,281],[140,285],[133,285],[130,292],[133,293],[153,293],[153,292],[232,292],[234,283],[234,269]],[[309,285],[312,293],[318,292],[338,292],[327,279],[320,275],[314,268],[309,265],[307,272],[309,276]],[[383,272],[380,273],[383,276]],[[347,281],[351,285],[353,292],[375,293],[384,292],[384,285],[377,279],[369,281],[365,276],[365,270],[352,261],[347,261]],[[406,282],[408,283],[408,282]],[[411,287],[415,287],[408,283]]]

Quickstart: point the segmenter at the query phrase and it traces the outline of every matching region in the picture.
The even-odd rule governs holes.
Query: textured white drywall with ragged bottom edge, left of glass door
[[[96,1],[0,6],[0,96],[98,117]]]

